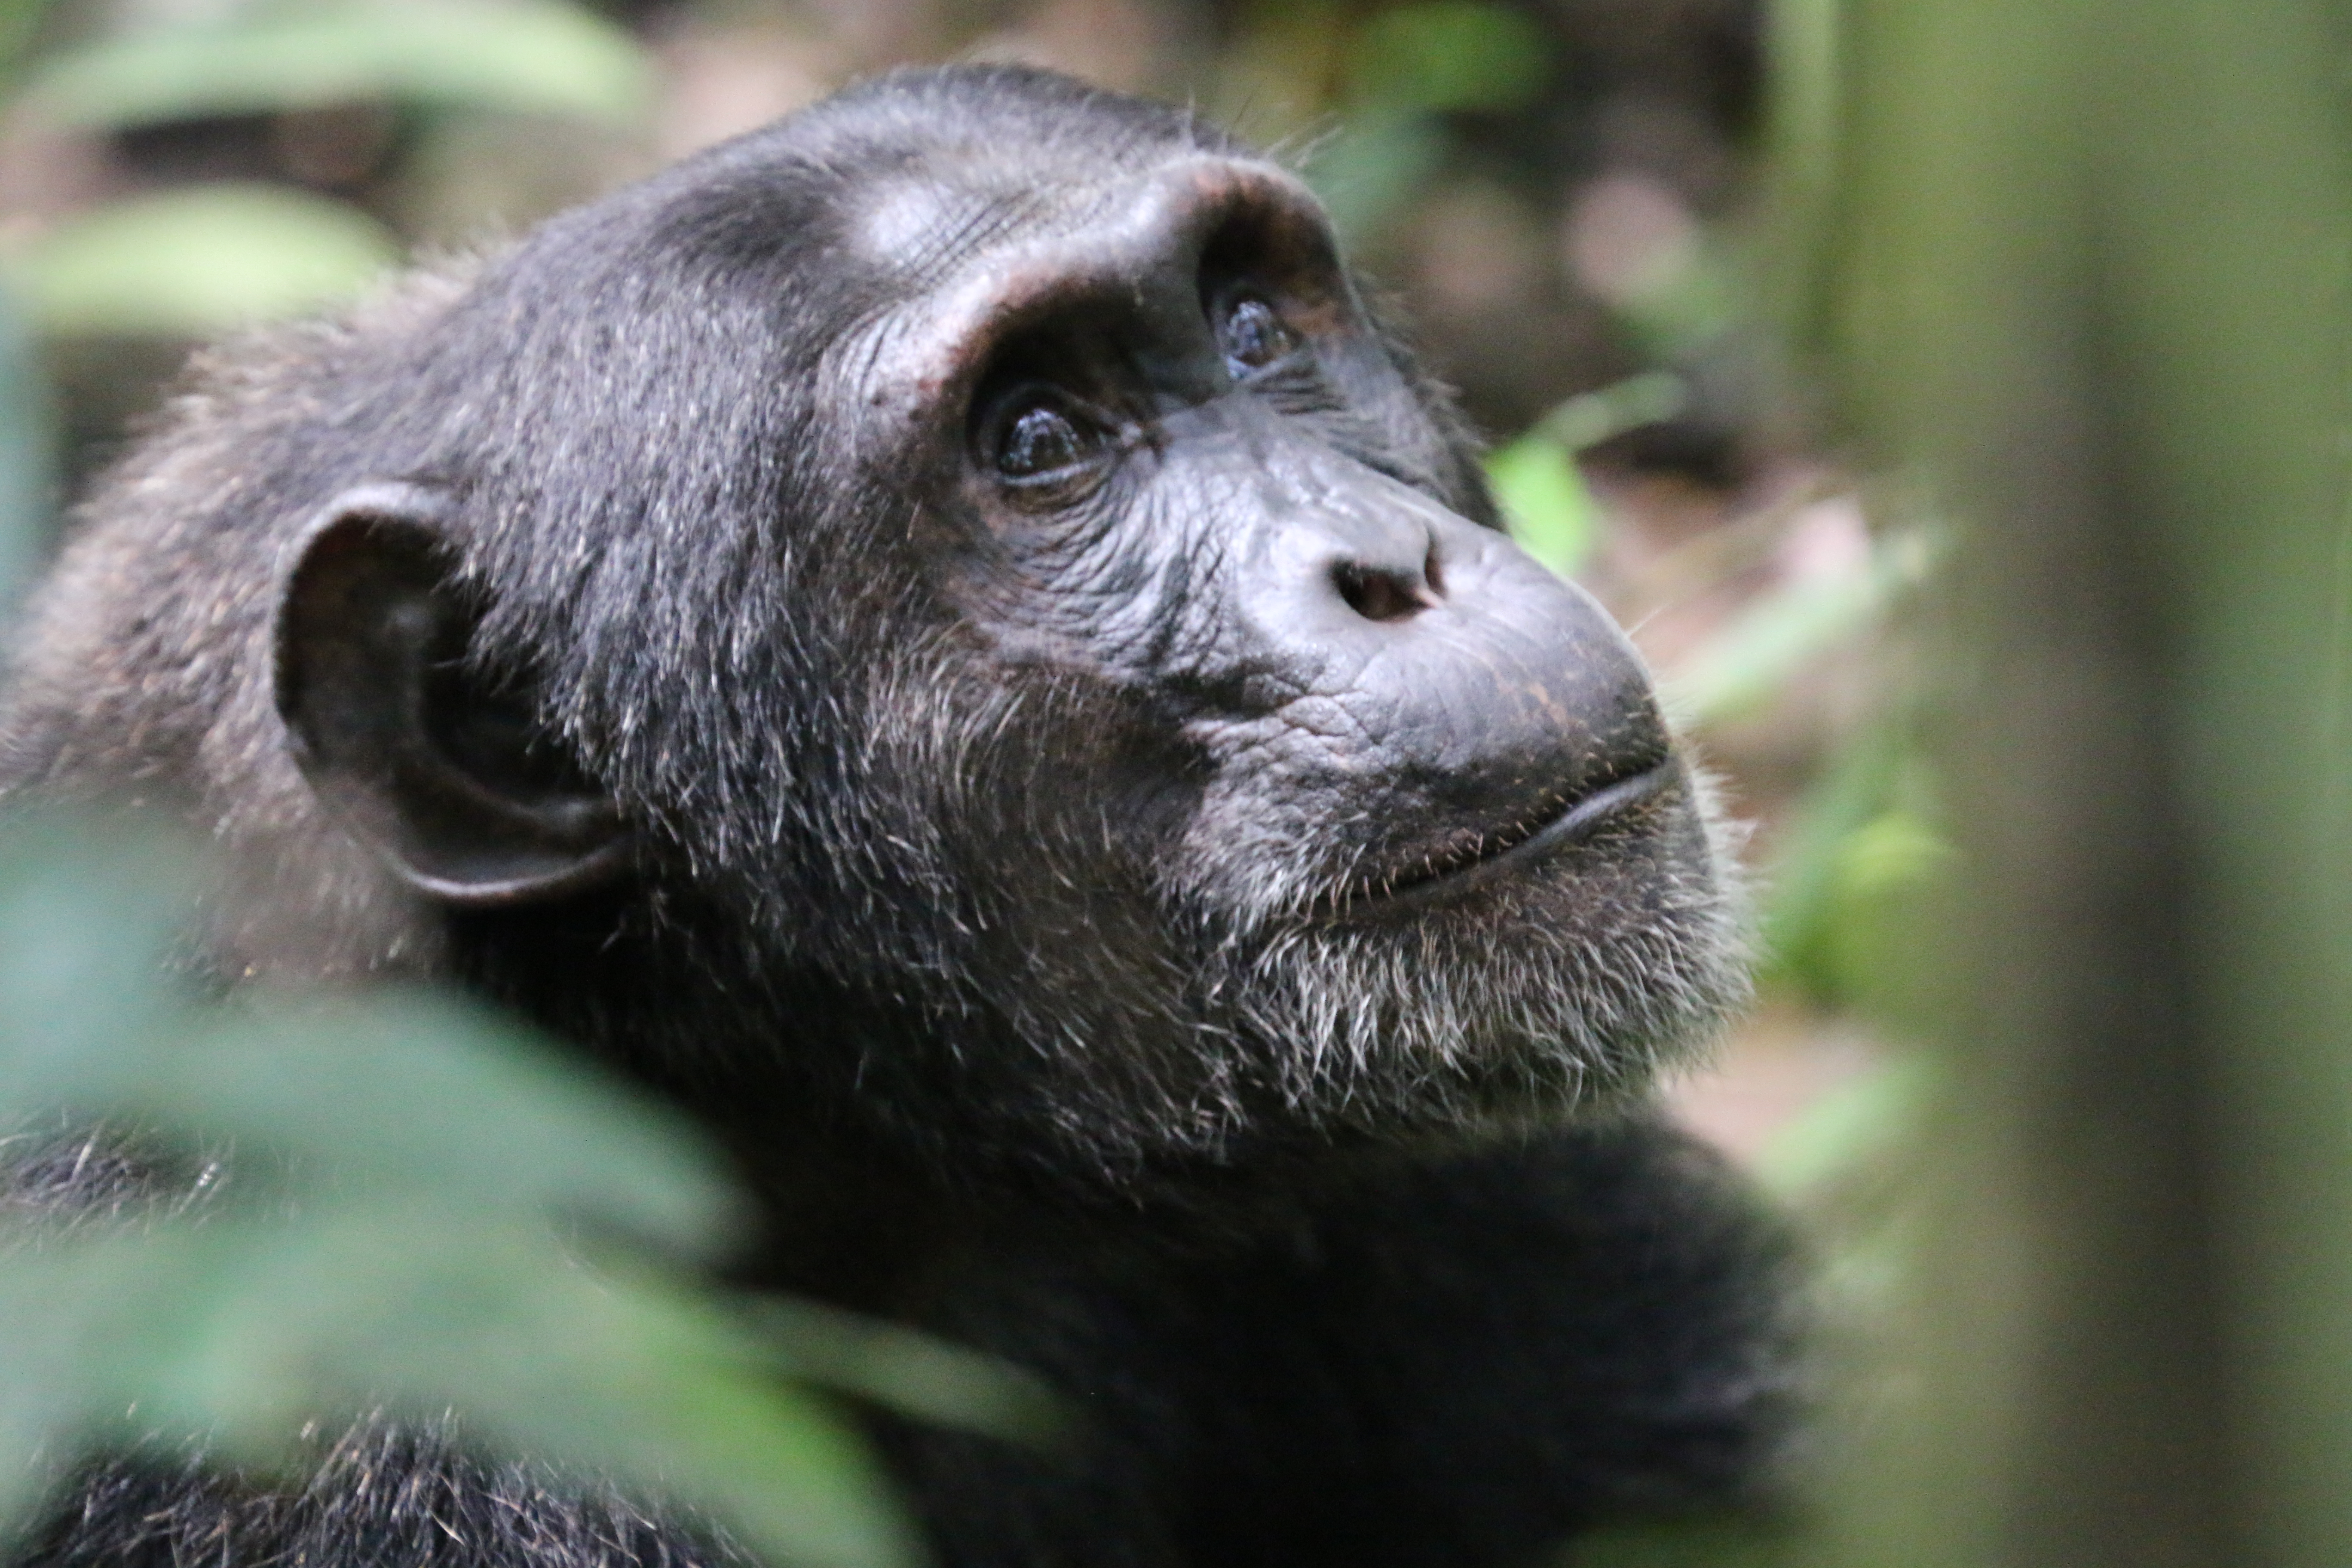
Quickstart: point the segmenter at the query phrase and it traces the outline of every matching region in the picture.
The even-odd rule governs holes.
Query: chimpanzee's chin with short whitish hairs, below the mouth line
[[[1225,1027],[1282,1114],[1369,1133],[1621,1100],[1750,1001],[1738,830],[1686,762],[1590,832],[1221,945]]]

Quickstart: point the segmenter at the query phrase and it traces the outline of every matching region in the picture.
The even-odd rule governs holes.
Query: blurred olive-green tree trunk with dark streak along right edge
[[[2352,1563],[2352,26],[1778,28],[1804,339],[1959,543],[1919,1382],[1844,1556]]]

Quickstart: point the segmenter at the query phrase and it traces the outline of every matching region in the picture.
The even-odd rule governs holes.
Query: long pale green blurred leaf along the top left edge
[[[87,127],[350,101],[628,122],[652,68],[628,33],[557,0],[310,0],[108,38],[26,89],[33,113]]]

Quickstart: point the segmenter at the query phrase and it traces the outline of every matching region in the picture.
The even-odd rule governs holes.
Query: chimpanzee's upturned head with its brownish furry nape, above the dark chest
[[[1639,658],[1315,197],[1030,71],[882,78],[216,367],[9,748],[179,780],[266,865],[235,964],[454,971],[948,1159],[1524,1117],[1743,992]]]

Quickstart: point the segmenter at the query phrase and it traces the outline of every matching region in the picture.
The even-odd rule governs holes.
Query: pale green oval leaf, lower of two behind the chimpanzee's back
[[[209,339],[355,294],[400,244],[355,207],[275,186],[195,186],[99,207],[16,266],[49,334]]]

